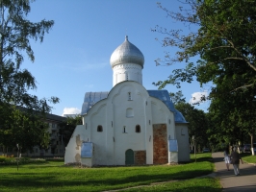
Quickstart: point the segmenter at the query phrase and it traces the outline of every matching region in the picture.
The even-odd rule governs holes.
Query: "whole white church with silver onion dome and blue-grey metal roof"
[[[142,85],[144,57],[128,40],[111,56],[113,88],[87,92],[64,163],[145,165],[190,161],[188,122],[166,90]]]

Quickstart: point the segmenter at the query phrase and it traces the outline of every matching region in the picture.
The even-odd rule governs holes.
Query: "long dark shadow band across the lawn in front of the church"
[[[110,169],[111,170],[111,169]],[[68,173],[64,176],[55,174],[49,175],[49,173],[10,173],[2,174],[0,186],[15,188],[18,187],[61,187],[61,186],[77,186],[83,185],[86,188],[90,189],[93,187],[97,191],[98,187],[105,189],[117,189],[117,188],[126,188],[130,186],[138,186],[150,184],[152,182],[161,182],[165,180],[186,180],[194,177],[207,175],[208,172],[204,171],[184,171],[173,174],[156,174],[156,175],[146,175],[141,173],[136,176],[128,176],[121,179],[86,179],[83,176],[73,177],[74,173]],[[82,173],[79,173],[82,174]],[[86,175],[86,173],[85,173]],[[14,185],[13,185],[14,180]]]

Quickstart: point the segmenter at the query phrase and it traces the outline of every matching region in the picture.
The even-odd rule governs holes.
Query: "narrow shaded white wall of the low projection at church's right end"
[[[179,161],[190,161],[190,142],[187,124],[176,123],[176,136],[178,140]]]

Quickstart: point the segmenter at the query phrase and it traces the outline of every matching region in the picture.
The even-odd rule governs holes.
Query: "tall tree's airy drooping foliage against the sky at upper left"
[[[36,89],[36,80],[27,69],[21,69],[23,54],[35,60],[30,40],[42,42],[45,33],[52,28],[54,21],[41,20],[33,23],[26,19],[30,12],[28,0],[3,0],[0,3],[0,101],[49,112],[46,103],[58,103],[59,98],[38,100],[28,93]]]

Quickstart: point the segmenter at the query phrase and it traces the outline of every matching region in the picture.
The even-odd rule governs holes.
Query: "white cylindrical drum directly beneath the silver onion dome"
[[[120,82],[135,81],[142,84],[142,67],[139,64],[124,63],[118,64],[113,68],[113,86]]]

